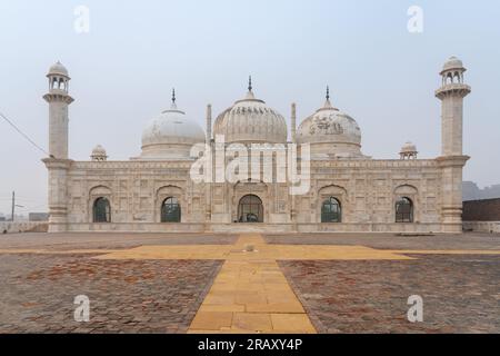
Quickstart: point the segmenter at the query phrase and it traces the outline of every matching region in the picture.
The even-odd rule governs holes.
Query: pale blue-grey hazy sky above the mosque
[[[90,32],[74,30],[78,6]],[[423,10],[410,33],[407,11]],[[464,179],[500,182],[500,2],[459,0],[0,0],[0,111],[48,146],[48,68],[61,60],[72,81],[70,157],[101,144],[110,159],[140,152],[144,125],[178,106],[204,127],[240,99],[249,75],[256,95],[287,119],[324,101],[354,117],[362,150],[397,158],[407,140],[421,158],[440,155],[440,101],[433,92],[451,55],[469,69],[464,105]],[[43,155],[0,120],[0,211],[44,210]]]

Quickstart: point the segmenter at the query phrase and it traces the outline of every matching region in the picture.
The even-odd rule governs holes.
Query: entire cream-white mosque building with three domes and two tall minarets
[[[213,148],[216,136],[223,135],[226,145],[288,144],[284,118],[256,98],[251,83],[243,99],[218,116],[213,137],[211,107],[203,131],[177,108],[173,97],[172,107],[146,127],[138,157],[108,160],[99,146],[89,161],[68,159],[72,98],[68,71],[58,63],[48,75],[51,86],[44,97],[50,106],[51,157],[43,160],[49,169],[49,229],[460,233],[462,168],[469,158],[461,150],[463,97],[470,92],[464,71],[451,58],[441,72],[436,95],[442,100],[442,156],[436,159],[418,159],[412,144],[399,159],[372,159],[361,152],[356,120],[334,108],[329,95],[298,128],[292,105],[290,136],[299,147],[310,145],[311,164],[309,191],[290,195],[289,182],[190,178],[191,147]],[[401,201],[408,205],[402,208]],[[258,222],[249,222],[253,219]]]

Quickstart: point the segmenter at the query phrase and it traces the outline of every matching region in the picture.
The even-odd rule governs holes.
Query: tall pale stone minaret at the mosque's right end
[[[436,97],[441,100],[441,217],[443,233],[462,231],[462,170],[468,156],[463,156],[463,98],[471,88],[463,82],[466,68],[461,60],[451,57],[441,71],[441,88]]]

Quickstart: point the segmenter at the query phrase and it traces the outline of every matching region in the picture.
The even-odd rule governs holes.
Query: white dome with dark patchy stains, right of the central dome
[[[300,123],[297,141],[311,144],[312,149],[312,146],[317,146],[318,151],[329,157],[362,156],[361,129],[358,122],[332,107],[328,93],[323,107]]]

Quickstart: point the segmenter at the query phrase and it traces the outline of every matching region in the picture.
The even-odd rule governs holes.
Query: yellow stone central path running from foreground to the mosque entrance
[[[260,236],[239,238],[189,333],[316,333],[268,246]]]

